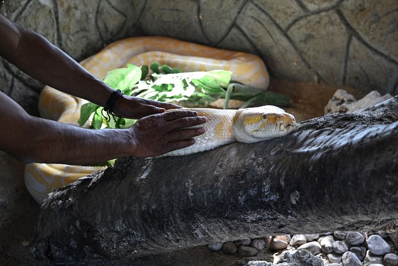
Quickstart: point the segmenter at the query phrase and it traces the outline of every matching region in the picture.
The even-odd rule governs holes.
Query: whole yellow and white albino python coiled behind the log
[[[157,61],[184,71],[233,71],[232,80],[259,89],[267,89],[269,76],[263,61],[252,54],[220,50],[167,37],[132,37],[116,41],[99,53],[83,60],[81,65],[99,79],[108,71],[127,63],[149,65]],[[39,97],[41,117],[78,125],[80,107],[85,100],[46,86]],[[167,153],[179,156],[214,149],[231,142],[258,142],[287,134],[296,124],[292,115],[276,106],[239,110],[196,109],[206,116],[206,133],[188,148]],[[234,125],[234,126],[232,126]],[[245,125],[245,126],[243,126]],[[88,124],[86,123],[86,125]],[[246,128],[245,130],[243,130]],[[248,133],[245,133],[248,132]],[[25,184],[38,202],[55,189],[106,167],[30,163],[25,167]]]

